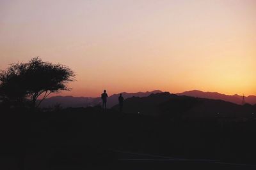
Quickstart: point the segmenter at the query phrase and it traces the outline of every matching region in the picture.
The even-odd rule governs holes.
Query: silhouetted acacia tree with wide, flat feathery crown
[[[0,96],[18,103],[28,99],[32,108],[38,108],[49,94],[71,90],[67,84],[74,77],[74,71],[67,66],[33,57],[28,63],[11,64],[1,71]]]

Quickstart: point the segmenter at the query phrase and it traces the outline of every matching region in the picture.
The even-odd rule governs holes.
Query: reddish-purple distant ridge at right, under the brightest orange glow
[[[193,96],[193,97],[200,97],[205,99],[218,99],[223,101],[229,101],[236,104],[242,104],[243,96],[235,95],[225,95],[220,94],[217,92],[202,92],[199,90],[191,90],[187,92],[178,93],[178,96]],[[256,104],[256,96],[248,96],[244,97],[245,102],[249,104]]]

